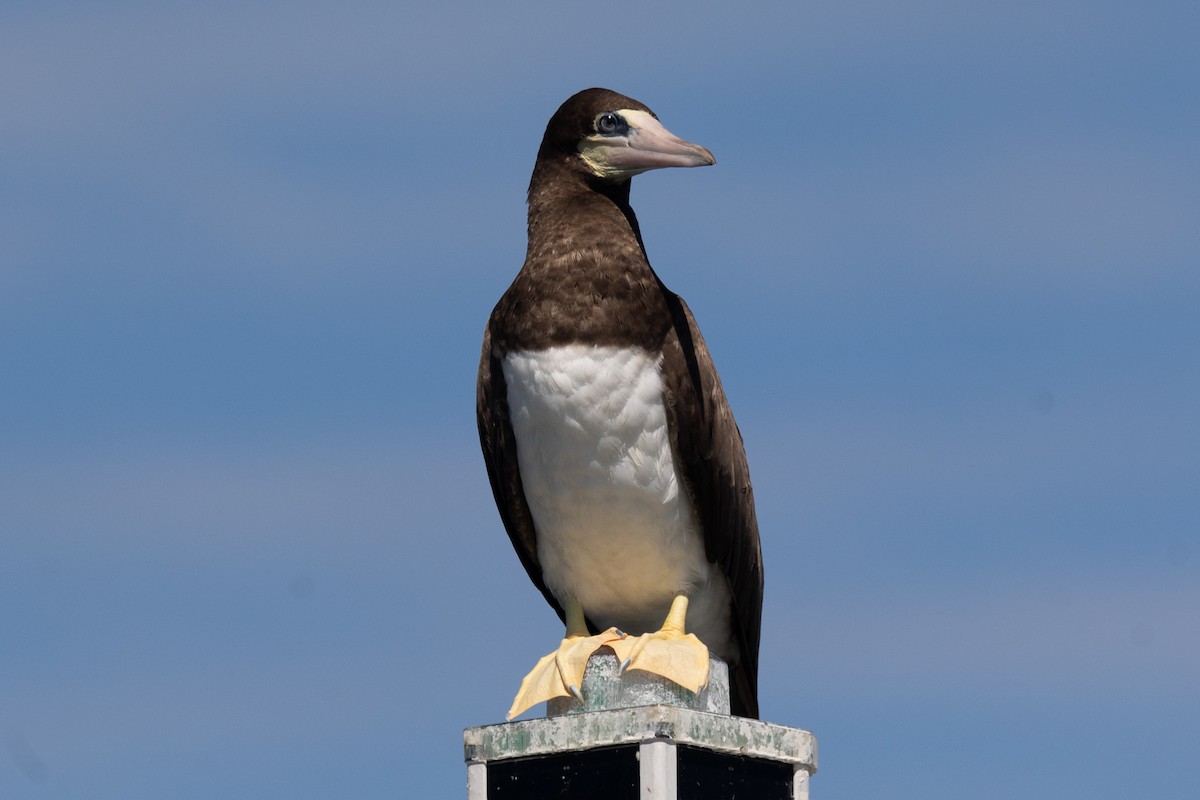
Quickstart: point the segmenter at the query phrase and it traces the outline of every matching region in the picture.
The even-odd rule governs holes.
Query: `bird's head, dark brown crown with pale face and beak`
[[[556,156],[613,184],[662,167],[716,163],[707,149],[662,127],[643,103],[607,89],[584,89],[550,118],[538,157]]]

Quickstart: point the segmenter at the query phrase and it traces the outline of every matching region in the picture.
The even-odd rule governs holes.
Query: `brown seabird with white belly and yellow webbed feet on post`
[[[484,332],[476,421],[512,546],[566,625],[508,718],[582,698],[590,655],[700,691],[709,651],[730,710],[758,717],[762,551],[742,433],[688,305],[650,266],[630,182],[713,166],[608,89],[546,125],[524,264]]]

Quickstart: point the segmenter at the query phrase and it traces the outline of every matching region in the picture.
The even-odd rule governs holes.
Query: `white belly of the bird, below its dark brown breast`
[[[654,631],[689,597],[688,628],[722,657],[730,590],[671,453],[661,356],[570,345],[510,353],[509,410],[538,559],[559,601],[593,622]]]

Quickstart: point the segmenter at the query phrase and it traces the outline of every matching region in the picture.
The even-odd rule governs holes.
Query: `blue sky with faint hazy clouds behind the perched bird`
[[[559,637],[479,337],[546,119],[746,440],[814,796],[1192,798],[1193,2],[8,2],[0,796],[461,798]]]

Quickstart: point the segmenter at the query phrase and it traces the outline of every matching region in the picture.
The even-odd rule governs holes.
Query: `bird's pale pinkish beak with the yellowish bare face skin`
[[[662,167],[710,167],[706,148],[685,142],[662,127],[652,114],[623,109],[629,124],[624,136],[590,136],[580,142],[580,155],[601,178],[623,180]]]

